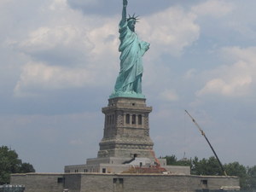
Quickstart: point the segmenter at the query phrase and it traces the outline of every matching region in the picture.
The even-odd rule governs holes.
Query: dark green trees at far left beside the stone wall
[[[9,183],[11,173],[35,172],[29,163],[22,163],[15,150],[0,147],[0,184]]]

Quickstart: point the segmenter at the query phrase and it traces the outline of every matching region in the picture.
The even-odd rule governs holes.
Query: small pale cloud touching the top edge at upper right
[[[229,14],[234,9],[234,5],[222,0],[209,0],[192,8],[198,16],[210,15],[212,17],[222,17]]]

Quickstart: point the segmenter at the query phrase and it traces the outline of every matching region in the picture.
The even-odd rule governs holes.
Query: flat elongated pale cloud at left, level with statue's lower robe
[[[15,86],[15,96],[34,96],[38,90],[83,87],[95,82],[96,72],[86,68],[48,66],[44,63],[27,63]]]

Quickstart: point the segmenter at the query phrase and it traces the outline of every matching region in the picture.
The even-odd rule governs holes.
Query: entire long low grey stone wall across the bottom
[[[58,178],[65,177],[64,183]],[[238,177],[163,175],[163,174],[15,174],[12,184],[26,185],[25,192],[192,192],[195,189],[220,189],[239,186]]]

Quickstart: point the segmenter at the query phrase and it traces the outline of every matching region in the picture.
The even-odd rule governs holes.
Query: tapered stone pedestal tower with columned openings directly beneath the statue
[[[154,143],[149,137],[146,99],[116,97],[108,100],[105,114],[104,135],[98,158],[149,158],[154,160]]]

